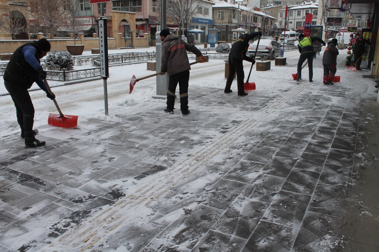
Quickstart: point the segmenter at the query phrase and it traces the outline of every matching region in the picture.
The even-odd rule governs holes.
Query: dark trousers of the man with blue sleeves
[[[25,140],[34,140],[34,107],[28,89],[6,80],[4,84],[16,107],[17,122],[21,131],[25,132]]]

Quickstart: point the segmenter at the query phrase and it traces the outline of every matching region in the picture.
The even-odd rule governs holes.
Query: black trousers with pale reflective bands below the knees
[[[189,81],[189,70],[170,76],[169,81],[168,81],[167,101],[166,101],[168,109],[174,109],[175,90],[179,83],[180,109],[182,111],[188,110],[188,81]]]

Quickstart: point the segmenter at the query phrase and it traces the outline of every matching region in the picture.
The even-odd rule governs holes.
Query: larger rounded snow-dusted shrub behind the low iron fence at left
[[[73,70],[74,58],[68,51],[53,50],[46,56],[45,64],[48,70]]]

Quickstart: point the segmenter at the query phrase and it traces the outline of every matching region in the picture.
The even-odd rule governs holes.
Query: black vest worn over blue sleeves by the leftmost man
[[[36,48],[36,53],[34,57],[36,58],[38,63],[40,62],[39,55],[41,54],[41,49],[35,41],[22,45],[19,48],[17,48],[16,51],[14,51],[12,58],[10,59],[5,69],[4,79],[29,89],[33,85],[33,82],[39,79],[38,70],[42,69],[42,66],[39,65],[40,68],[37,70],[27,62],[25,56],[22,54],[21,51],[22,48],[27,45],[31,45]]]

